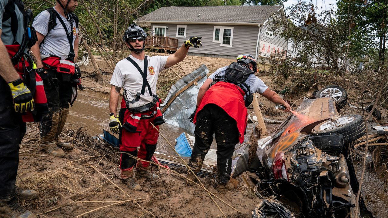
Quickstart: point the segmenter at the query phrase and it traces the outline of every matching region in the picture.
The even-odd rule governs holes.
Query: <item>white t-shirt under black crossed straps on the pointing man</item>
[[[144,69],[144,60],[139,60],[129,55],[133,61],[139,65],[140,69]],[[151,86],[152,95],[156,95],[156,82],[158,82],[159,72],[165,69],[168,56],[147,56],[147,81]],[[140,93],[143,86],[143,77],[135,66],[127,59],[123,59],[114,67],[113,75],[110,84],[122,87],[131,96],[136,96]],[[144,96],[151,96],[148,92],[148,87],[145,87]]]

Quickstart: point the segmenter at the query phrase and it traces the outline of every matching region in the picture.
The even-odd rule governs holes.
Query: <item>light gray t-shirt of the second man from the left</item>
[[[47,56],[58,56],[62,60],[68,58],[70,45],[68,37],[66,36],[67,33],[73,34],[74,47],[74,41],[78,33],[78,29],[76,28],[76,22],[73,21],[72,25],[71,21],[66,19],[66,17],[63,17],[59,13],[58,15],[59,16],[57,16],[57,25],[54,27],[54,29],[50,30],[48,34],[47,32],[49,31],[50,13],[47,10],[43,10],[42,12],[40,12],[40,14],[35,17],[34,22],[32,24],[32,26],[37,32],[46,36],[44,43],[42,43],[40,47],[40,55],[42,56],[42,58]],[[59,19],[62,19],[62,21],[65,23],[67,32],[63,28]]]

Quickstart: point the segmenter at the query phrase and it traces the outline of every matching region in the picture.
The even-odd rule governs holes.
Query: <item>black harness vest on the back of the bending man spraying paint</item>
[[[213,82],[210,86],[214,85],[219,81],[232,83],[242,89],[245,93],[245,107],[248,107],[253,101],[253,93],[251,93],[251,87],[245,83],[250,74],[254,74],[255,72],[247,67],[242,66],[241,64],[237,64],[233,62],[230,64],[223,76],[216,75]]]

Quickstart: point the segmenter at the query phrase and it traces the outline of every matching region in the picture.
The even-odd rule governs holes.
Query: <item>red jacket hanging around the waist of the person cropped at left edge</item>
[[[11,58],[19,50],[20,45],[5,45],[5,47],[7,48],[9,57]],[[35,102],[35,110],[33,112],[25,112],[22,114],[23,122],[39,122],[40,117],[35,115],[38,113],[45,113],[49,110],[49,107],[47,106],[46,93],[43,88],[42,78],[40,78],[39,74],[36,72],[35,76],[29,74],[24,75],[24,69],[31,67],[28,61],[24,59],[24,57],[22,57],[21,61],[19,61],[14,67],[22,80],[25,80],[23,76],[29,77],[29,84],[26,85],[33,94]],[[24,82],[26,83],[26,81]]]

